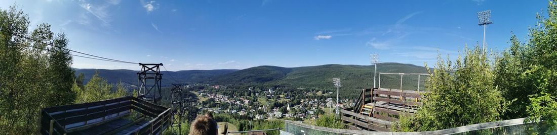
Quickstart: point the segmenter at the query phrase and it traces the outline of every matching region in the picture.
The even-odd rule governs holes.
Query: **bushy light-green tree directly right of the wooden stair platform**
[[[433,131],[501,120],[507,103],[494,85],[490,59],[477,46],[464,53],[455,63],[439,56],[426,83],[430,92],[424,95],[423,106],[415,117],[402,116],[400,129]]]

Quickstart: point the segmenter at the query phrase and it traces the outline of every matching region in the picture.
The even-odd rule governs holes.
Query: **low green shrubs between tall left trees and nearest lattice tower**
[[[121,83],[114,86],[99,77],[98,74],[91,77],[91,80],[87,82],[84,89],[81,89],[77,84],[72,88],[74,91],[77,91],[76,103],[95,102],[131,95],[125,91]]]

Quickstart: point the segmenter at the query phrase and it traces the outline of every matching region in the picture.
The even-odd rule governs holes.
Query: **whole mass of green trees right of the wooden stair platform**
[[[527,39],[510,35],[501,53],[476,45],[455,61],[439,55],[435,69],[428,69],[423,106],[396,128],[433,131],[527,117],[543,121],[550,129],[535,130],[551,134],[557,126],[557,1],[536,18]]]

